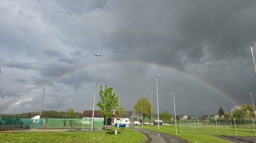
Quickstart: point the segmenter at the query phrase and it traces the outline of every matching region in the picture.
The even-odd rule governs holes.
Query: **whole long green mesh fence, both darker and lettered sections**
[[[103,120],[94,119],[93,128],[101,129]],[[91,129],[92,119],[24,119],[0,118],[0,128],[55,128],[55,129]]]

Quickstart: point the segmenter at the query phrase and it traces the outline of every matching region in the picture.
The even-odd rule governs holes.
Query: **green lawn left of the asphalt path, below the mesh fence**
[[[115,128],[114,128],[115,130]],[[5,131],[0,134],[0,142],[142,142],[145,136],[130,128],[122,128],[122,131],[108,130],[107,135],[104,131],[87,132],[32,132],[32,131]]]

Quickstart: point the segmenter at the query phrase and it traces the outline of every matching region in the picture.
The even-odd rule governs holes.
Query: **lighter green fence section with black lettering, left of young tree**
[[[93,128],[101,129],[103,120],[94,119]],[[47,119],[46,128],[91,129],[92,119]]]

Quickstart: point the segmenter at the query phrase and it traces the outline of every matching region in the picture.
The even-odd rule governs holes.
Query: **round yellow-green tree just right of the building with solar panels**
[[[137,103],[133,107],[135,114],[141,116],[144,121],[145,117],[151,118],[151,102],[147,98],[138,99]],[[153,115],[154,110],[152,109]],[[143,123],[142,123],[143,124]]]

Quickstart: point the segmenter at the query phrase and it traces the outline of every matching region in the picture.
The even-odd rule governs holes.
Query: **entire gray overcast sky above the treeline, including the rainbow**
[[[133,110],[214,115],[256,99],[256,1],[0,2],[0,113],[92,110],[106,84]],[[253,47],[256,51],[256,45]],[[254,52],[256,54],[256,52]],[[96,109],[98,107],[96,106]]]

